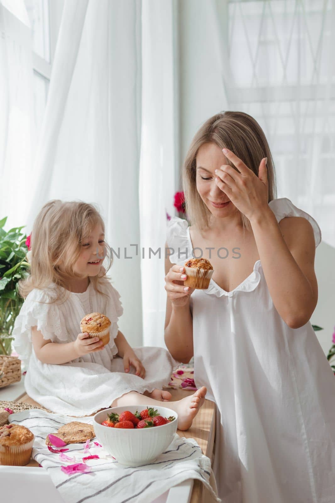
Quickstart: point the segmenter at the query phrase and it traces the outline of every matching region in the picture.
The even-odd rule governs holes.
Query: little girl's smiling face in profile
[[[80,276],[96,276],[105,257],[105,234],[101,224],[97,224],[92,235],[81,240],[81,253],[74,265],[74,271]]]

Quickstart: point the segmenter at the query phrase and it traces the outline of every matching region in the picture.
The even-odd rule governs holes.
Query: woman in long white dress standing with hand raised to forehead
[[[191,226],[174,217],[167,231],[165,343],[177,360],[194,355],[195,382],[217,404],[219,496],[330,503],[335,380],[309,322],[320,228],[276,198],[269,145],[244,113],[204,123],[183,183]],[[193,248],[213,265],[207,290],[183,286]]]

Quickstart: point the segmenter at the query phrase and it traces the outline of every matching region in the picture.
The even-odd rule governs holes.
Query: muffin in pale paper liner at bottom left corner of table
[[[5,425],[1,430],[10,426],[12,428],[20,428],[21,431],[24,431],[27,438],[31,436],[33,438],[24,443],[20,443],[18,439],[11,443],[11,440],[7,441],[9,437],[0,439],[0,465],[25,466],[30,461],[35,436],[28,428],[20,425]]]

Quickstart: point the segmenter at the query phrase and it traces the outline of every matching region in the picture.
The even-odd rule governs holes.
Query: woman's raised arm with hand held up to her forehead
[[[222,164],[216,184],[250,221],[273,303],[291,328],[310,319],[317,303],[313,228],[303,217],[284,218],[280,225],[268,204],[267,158],[258,176],[231,150],[222,149],[230,164]]]

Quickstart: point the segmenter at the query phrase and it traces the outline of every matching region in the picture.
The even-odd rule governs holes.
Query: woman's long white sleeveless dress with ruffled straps
[[[316,221],[289,199],[269,206],[278,222],[309,220],[320,243]],[[171,219],[167,245],[173,264],[192,258],[186,220]],[[222,501],[333,503],[335,377],[311,323],[293,329],[282,320],[260,260],[231,292],[213,280],[195,290],[191,311],[195,382],[217,404],[213,468]]]

